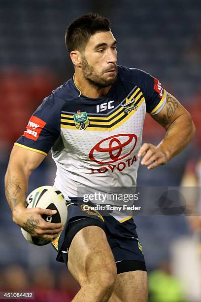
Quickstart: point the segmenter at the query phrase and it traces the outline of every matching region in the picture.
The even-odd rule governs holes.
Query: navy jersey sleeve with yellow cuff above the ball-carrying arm
[[[61,111],[61,99],[52,93],[33,113],[14,145],[47,155],[60,135]]]

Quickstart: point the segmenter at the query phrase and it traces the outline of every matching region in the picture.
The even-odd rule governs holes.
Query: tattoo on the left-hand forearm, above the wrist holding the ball
[[[17,177],[14,176],[10,178],[10,180],[6,183],[5,195],[12,211],[21,202],[22,198],[25,198],[20,180]]]

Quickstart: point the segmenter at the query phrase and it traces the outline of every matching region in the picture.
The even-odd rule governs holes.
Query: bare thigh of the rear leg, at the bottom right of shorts
[[[117,275],[114,291],[109,302],[147,302],[147,272],[141,270],[124,272]]]

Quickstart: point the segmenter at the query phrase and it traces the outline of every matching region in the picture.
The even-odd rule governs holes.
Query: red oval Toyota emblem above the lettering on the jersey
[[[125,141],[126,140],[126,141]],[[98,144],[96,144],[92,150],[89,152],[89,158],[98,164],[109,164],[113,163],[117,160],[121,160],[127,156],[129,156],[137,142],[137,136],[132,133],[128,134],[117,134],[106,139],[101,140]],[[122,150],[124,147],[130,146],[130,151],[127,154],[121,156]],[[108,153],[108,156],[111,160],[108,161],[101,161],[99,155],[101,153]]]

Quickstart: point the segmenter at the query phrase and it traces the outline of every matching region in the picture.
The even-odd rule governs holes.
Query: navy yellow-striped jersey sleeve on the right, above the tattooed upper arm
[[[167,92],[159,80],[150,74],[140,71],[139,80],[145,96],[147,113],[157,114],[166,104]]]

